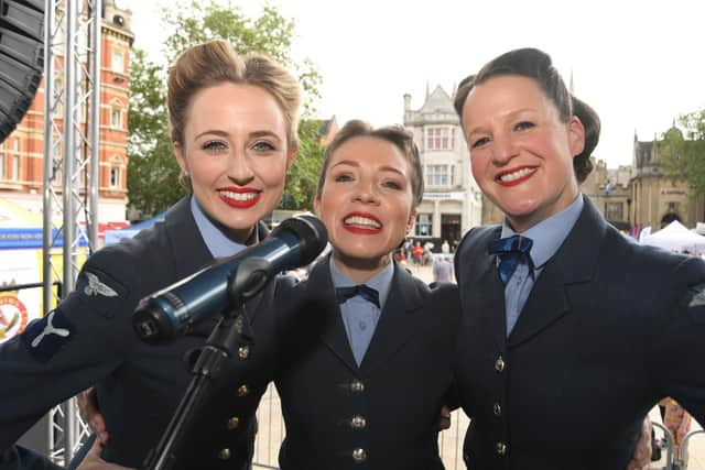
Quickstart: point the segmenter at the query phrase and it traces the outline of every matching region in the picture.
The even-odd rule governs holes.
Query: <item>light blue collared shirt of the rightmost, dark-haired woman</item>
[[[521,310],[531,294],[536,278],[543,271],[549,260],[558,251],[563,241],[568,236],[577,218],[583,211],[583,195],[578,194],[575,200],[558,214],[554,214],[545,220],[531,227],[521,233],[533,240],[530,256],[533,261],[533,272],[529,271],[529,264],[524,261],[520,262],[517,270],[509,277],[505,286],[505,310],[507,314],[507,336],[511,332],[519,319]],[[507,225],[502,223],[501,238],[517,234],[516,231]]]

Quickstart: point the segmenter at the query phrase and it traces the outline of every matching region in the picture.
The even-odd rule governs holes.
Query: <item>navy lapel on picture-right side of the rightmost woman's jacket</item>
[[[593,278],[606,225],[597,208],[583,197],[585,206],[558,251],[545,264],[527,299],[509,346],[531,339],[571,311],[566,286]]]

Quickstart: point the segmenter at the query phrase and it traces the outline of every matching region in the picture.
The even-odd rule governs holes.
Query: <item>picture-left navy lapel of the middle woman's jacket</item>
[[[306,298],[311,299],[311,305],[323,308],[324,315],[321,320],[324,323],[321,329],[321,340],[336,354],[350,370],[357,371],[358,367],[352,356],[352,349],[348,341],[340,307],[335,297],[335,287],[330,277],[330,255],[321,259],[311,270],[306,281]]]

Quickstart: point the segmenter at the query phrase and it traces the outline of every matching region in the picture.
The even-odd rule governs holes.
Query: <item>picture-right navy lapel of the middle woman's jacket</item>
[[[368,375],[386,363],[419,331],[422,307],[427,291],[420,288],[411,274],[394,263],[394,275],[389,296],[360,369]]]

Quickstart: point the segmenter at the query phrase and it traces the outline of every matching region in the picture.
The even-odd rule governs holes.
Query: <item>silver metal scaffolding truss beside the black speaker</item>
[[[45,310],[61,300],[53,293],[54,282],[63,283],[62,298],[75,287],[78,241],[87,239],[90,252],[97,248],[101,4],[102,0],[45,0]],[[79,225],[83,220],[85,226]],[[75,398],[53,408],[50,457],[67,463],[88,433]]]

